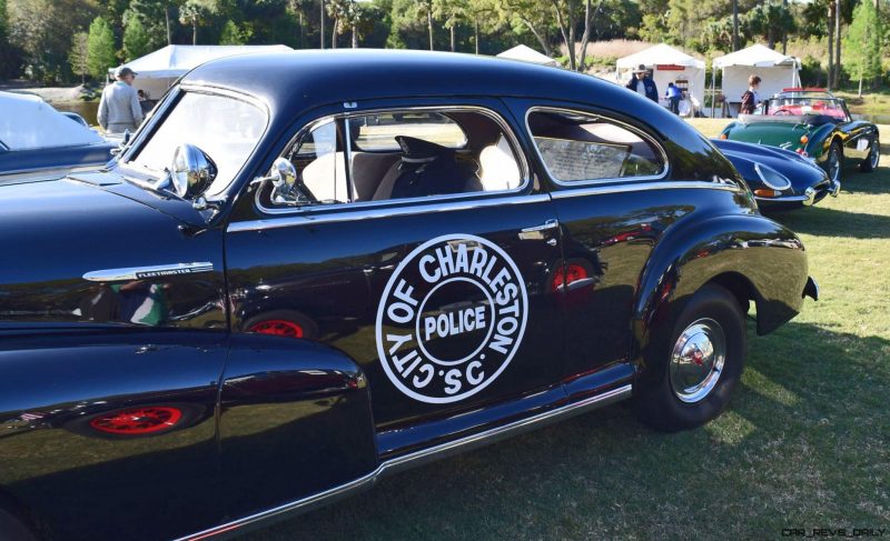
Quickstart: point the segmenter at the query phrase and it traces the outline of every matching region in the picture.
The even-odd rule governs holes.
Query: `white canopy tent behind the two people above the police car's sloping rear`
[[[620,82],[630,79],[630,72],[640,64],[652,71],[652,79],[659,88],[659,103],[668,107],[664,91],[668,83],[673,82],[681,89],[685,89],[689,101],[685,107],[681,104],[681,114],[694,113],[704,102],[704,61],[690,57],[683,51],[679,51],[666,43],[659,43],[629,57],[620,58],[615,66],[615,79]],[[685,101],[685,100],[684,100]],[[691,102],[691,103],[690,103]],[[689,107],[689,106],[692,107]]]

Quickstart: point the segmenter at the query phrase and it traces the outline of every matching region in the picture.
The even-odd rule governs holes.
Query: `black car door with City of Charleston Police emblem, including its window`
[[[264,184],[241,198],[257,219],[228,226],[234,330],[277,324],[346,352],[384,455],[468,428],[427,422],[560,389],[558,226],[502,107],[316,113],[285,150],[301,192]]]

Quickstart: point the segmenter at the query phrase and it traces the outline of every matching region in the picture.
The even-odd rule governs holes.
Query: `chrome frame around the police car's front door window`
[[[380,114],[380,113],[389,113],[389,112],[403,112],[403,111],[432,111],[432,112],[439,112],[439,111],[472,111],[478,112],[479,114],[484,114],[488,117],[492,121],[497,123],[497,127],[501,129],[501,132],[507,138],[507,142],[511,144],[513,149],[513,153],[516,158],[517,166],[520,167],[520,171],[522,173],[522,183],[516,188],[510,190],[497,190],[497,191],[476,191],[476,192],[464,192],[464,193],[443,193],[441,196],[425,196],[419,198],[400,198],[400,199],[385,199],[380,201],[350,201],[345,203],[328,203],[328,204],[305,204],[301,207],[266,207],[263,201],[260,200],[260,189],[256,190],[256,194],[254,196],[254,203],[256,208],[263,214],[267,216],[294,216],[294,214],[316,214],[323,212],[330,212],[330,211],[339,211],[339,210],[354,210],[354,211],[373,211],[374,209],[379,208],[393,208],[396,207],[398,209],[403,209],[407,206],[413,203],[428,203],[431,200],[436,201],[437,203],[447,202],[447,201],[466,201],[471,198],[476,198],[476,201],[481,199],[494,199],[494,198],[504,198],[510,196],[517,196],[522,194],[532,183],[532,174],[531,174],[531,167],[528,163],[528,157],[523,151],[522,146],[520,144],[520,140],[516,137],[514,130],[510,127],[510,123],[496,111],[493,111],[485,107],[479,106],[418,106],[418,107],[387,107],[387,108],[379,108],[379,109],[368,109],[368,110],[349,110],[346,112],[338,112],[333,114],[326,114],[319,119],[313,120],[303,128],[300,128],[297,133],[290,138],[290,140],[285,144],[284,150],[279,154],[283,157],[287,153],[289,149],[296,144],[296,142],[306,136],[306,133],[310,132],[315,127],[324,123],[329,122],[332,120],[339,120],[339,119],[348,119],[348,118],[356,118],[356,117],[364,117],[370,114]],[[462,128],[463,129],[463,128]],[[388,216],[388,213],[384,212]]]

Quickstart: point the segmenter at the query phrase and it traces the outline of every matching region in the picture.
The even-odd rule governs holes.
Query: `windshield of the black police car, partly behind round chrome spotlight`
[[[132,163],[161,173],[182,143],[201,149],[216,163],[217,176],[205,192],[219,194],[238,174],[266,129],[266,113],[235,98],[188,92],[161,120]]]

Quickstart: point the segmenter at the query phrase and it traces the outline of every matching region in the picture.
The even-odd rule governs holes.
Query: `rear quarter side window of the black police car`
[[[666,167],[649,137],[597,114],[534,109],[528,129],[547,172],[561,183],[655,177]]]

